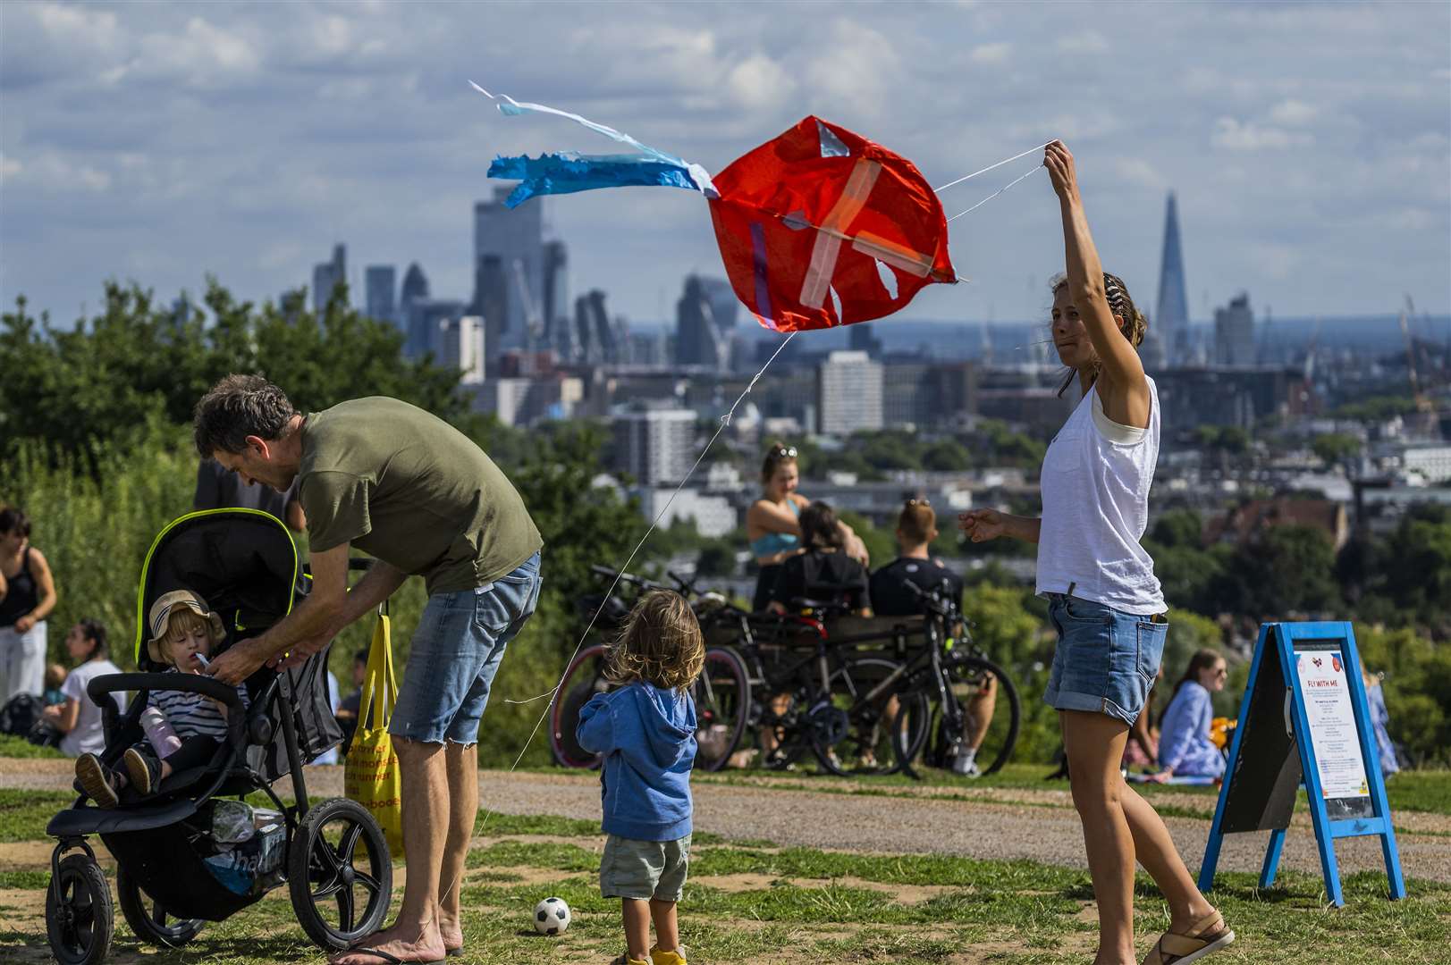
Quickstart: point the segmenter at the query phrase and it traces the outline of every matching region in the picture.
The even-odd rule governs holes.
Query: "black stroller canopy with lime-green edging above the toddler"
[[[221,614],[226,643],[255,637],[287,615],[299,579],[297,547],[277,517],[258,509],[203,509],[170,522],[147,551],[136,594],[136,666],[164,670],[147,653],[147,615],[174,589],[199,594]]]

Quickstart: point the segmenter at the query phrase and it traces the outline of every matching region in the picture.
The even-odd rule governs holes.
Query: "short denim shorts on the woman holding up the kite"
[[[1096,711],[1132,726],[1159,673],[1168,621],[1064,594],[1048,594],[1048,618],[1058,649],[1043,699],[1055,710]]]

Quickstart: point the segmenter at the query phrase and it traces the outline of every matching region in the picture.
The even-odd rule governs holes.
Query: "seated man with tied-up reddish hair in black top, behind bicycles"
[[[926,612],[923,594],[936,591],[942,591],[958,607],[962,605],[962,578],[927,551],[934,538],[937,515],[932,511],[932,504],[926,499],[908,499],[897,517],[897,546],[901,556],[872,573],[872,611],[878,617],[914,617]],[[997,678],[988,675],[982,689],[963,708],[962,743],[952,759],[955,773],[978,776],[978,747],[987,737],[995,705]]]

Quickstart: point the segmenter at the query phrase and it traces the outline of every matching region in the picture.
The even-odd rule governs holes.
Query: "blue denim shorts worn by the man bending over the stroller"
[[[387,733],[434,744],[477,743],[503,649],[538,599],[538,553],[492,583],[429,596],[414,631]]]

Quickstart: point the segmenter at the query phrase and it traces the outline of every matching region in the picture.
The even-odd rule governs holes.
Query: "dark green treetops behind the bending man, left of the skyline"
[[[303,308],[300,292],[280,309],[258,309],[215,279],[205,303],[210,325],[200,313],[176,318],[135,283],[109,282],[99,315],[59,329],[16,299],[16,311],[0,316],[0,457],[22,440],[44,441],[55,457],[84,457],[151,412],[187,424],[202,393],[231,371],[267,376],[300,411],[390,395],[447,419],[466,412],[459,373],[402,358],[402,334],[350,309],[345,287],[321,316]]]

